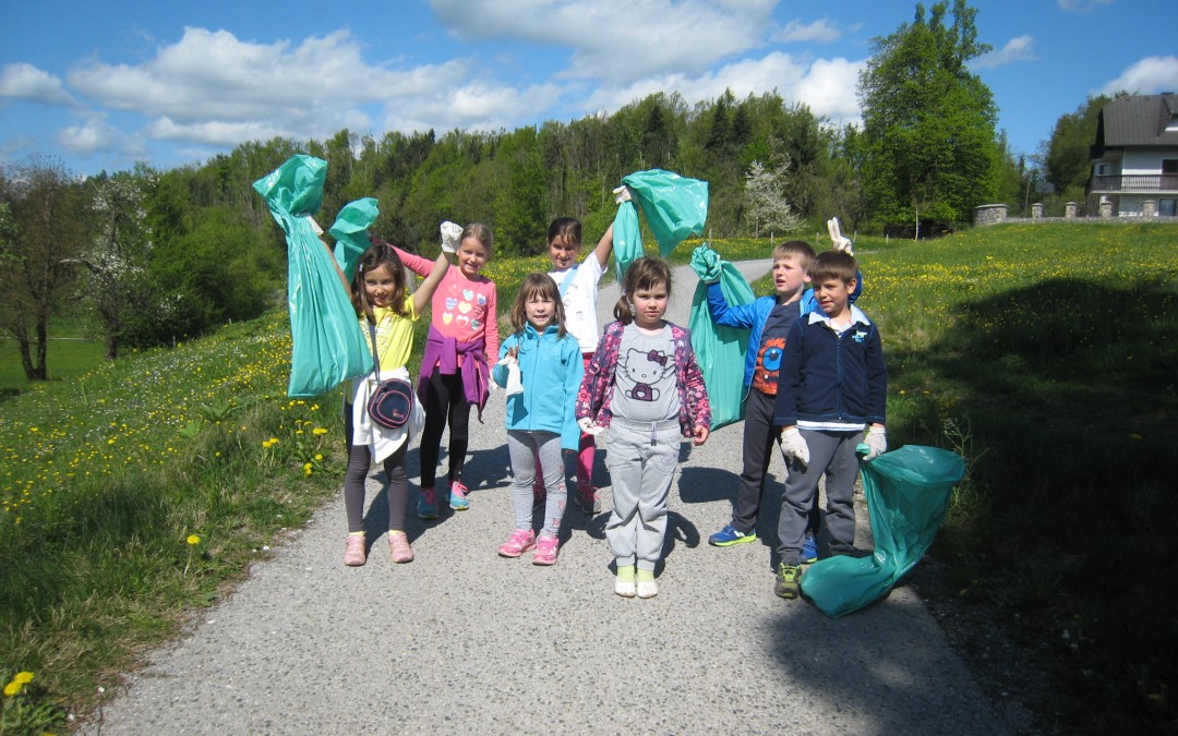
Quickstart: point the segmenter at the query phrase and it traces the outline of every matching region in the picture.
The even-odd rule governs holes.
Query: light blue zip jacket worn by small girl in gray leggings
[[[576,450],[581,442],[575,405],[584,364],[581,345],[571,333],[557,337],[556,325],[543,333],[531,324],[499,345],[499,360],[508,351],[519,347],[519,376],[523,393],[508,397],[507,424],[509,430],[543,430],[561,436],[561,447]],[[508,367],[502,363],[491,370],[491,379],[501,386],[508,384]]]

